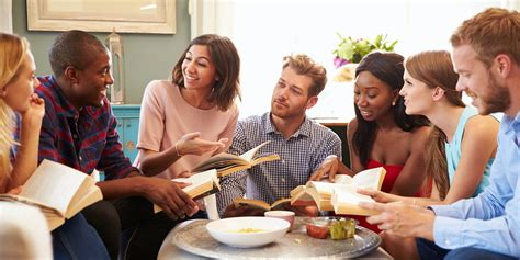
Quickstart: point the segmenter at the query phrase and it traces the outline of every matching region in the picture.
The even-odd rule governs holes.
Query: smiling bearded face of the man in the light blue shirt
[[[493,75],[496,63],[490,68],[477,59],[475,50],[467,44],[453,49],[453,67],[459,74],[456,90],[465,91],[473,99],[472,104],[481,114],[507,111],[511,97],[506,86],[502,86]]]

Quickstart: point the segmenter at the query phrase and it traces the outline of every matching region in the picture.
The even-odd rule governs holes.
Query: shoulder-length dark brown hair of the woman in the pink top
[[[227,111],[233,106],[235,98],[240,98],[240,56],[237,48],[228,37],[216,34],[203,34],[192,39],[171,72],[173,83],[182,88],[184,88],[182,61],[193,45],[207,46],[218,75],[218,81],[213,86],[213,91],[207,101],[215,103],[218,110]]]

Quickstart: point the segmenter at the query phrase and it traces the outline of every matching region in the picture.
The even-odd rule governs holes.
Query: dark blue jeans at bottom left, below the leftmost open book
[[[53,253],[56,260],[110,259],[103,241],[81,213],[66,221],[52,235]]]

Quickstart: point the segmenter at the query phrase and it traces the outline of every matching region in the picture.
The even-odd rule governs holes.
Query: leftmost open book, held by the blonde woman
[[[103,200],[93,177],[68,166],[43,160],[19,195],[1,194],[0,200],[38,206],[50,230],[61,226],[84,207]]]

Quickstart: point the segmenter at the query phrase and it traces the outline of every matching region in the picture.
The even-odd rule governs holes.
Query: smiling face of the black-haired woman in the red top
[[[365,121],[375,121],[392,112],[392,102],[397,100],[397,90],[376,78],[370,71],[362,71],[355,78],[354,104]]]

